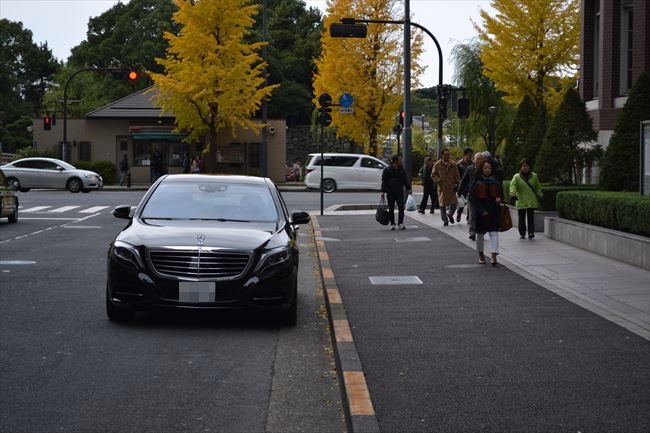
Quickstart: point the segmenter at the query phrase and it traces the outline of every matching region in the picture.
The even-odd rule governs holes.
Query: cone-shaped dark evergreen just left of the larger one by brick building
[[[597,138],[585,103],[576,89],[569,89],[562,104],[548,126],[544,142],[537,156],[537,173],[543,182],[573,183],[580,145]]]

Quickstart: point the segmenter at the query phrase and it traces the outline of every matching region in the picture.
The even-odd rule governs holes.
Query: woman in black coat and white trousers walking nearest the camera
[[[489,233],[492,266],[496,266],[497,255],[499,254],[499,222],[503,191],[501,182],[493,174],[490,160],[483,161],[476,171],[469,198],[472,206],[474,206],[478,261],[481,264],[485,263],[483,236],[485,233]]]

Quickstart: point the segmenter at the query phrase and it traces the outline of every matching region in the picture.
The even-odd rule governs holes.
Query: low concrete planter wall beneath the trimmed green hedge
[[[544,234],[550,239],[650,271],[650,238],[557,217],[545,219]]]

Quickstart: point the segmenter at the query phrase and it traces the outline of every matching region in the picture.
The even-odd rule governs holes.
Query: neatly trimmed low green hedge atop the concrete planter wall
[[[638,192],[561,191],[560,218],[650,237],[650,196]]]

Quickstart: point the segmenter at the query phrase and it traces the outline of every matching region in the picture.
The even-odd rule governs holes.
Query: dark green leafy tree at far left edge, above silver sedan
[[[43,94],[59,63],[20,22],[0,19],[0,142],[3,151],[32,145],[27,127],[40,116]]]

